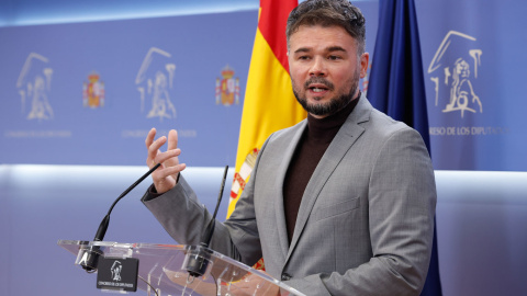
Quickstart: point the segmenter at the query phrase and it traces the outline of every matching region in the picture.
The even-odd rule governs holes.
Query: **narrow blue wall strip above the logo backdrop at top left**
[[[0,26],[128,20],[258,10],[258,0],[1,0]]]

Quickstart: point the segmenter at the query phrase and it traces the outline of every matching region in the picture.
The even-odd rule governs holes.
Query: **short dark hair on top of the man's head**
[[[341,26],[357,42],[357,55],[366,49],[366,19],[362,12],[348,0],[306,0],[294,8],[288,18],[285,36],[302,25]]]

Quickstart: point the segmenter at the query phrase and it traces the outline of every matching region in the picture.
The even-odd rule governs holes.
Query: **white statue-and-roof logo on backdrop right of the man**
[[[478,79],[483,52],[475,37],[450,31],[437,48],[428,66],[430,80],[435,83],[435,105],[442,112],[483,113],[483,105],[472,81]]]

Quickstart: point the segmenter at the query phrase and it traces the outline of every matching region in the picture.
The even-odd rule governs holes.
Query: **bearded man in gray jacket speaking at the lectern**
[[[307,0],[288,20],[293,91],[307,119],[272,134],[211,248],[306,295],[418,295],[431,251],[436,189],[417,132],[372,109],[365,19],[346,0]],[[211,215],[180,172],[177,133],[146,138],[161,162],[145,205],[180,243]],[[168,150],[160,147],[168,141]],[[156,192],[157,191],[157,192]]]

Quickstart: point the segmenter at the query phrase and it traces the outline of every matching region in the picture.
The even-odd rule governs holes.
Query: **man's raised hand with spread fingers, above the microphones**
[[[152,173],[152,179],[157,193],[165,193],[176,186],[179,172],[184,170],[187,166],[179,163],[178,160],[181,150],[178,148],[178,132],[176,132],[176,129],[171,129],[168,133],[168,148],[165,152],[161,152],[160,148],[167,143],[167,137],[162,136],[154,140],[155,137],[156,128],[152,128],[145,140],[146,148],[148,149],[146,164],[152,169],[157,163],[161,163],[161,166]]]

